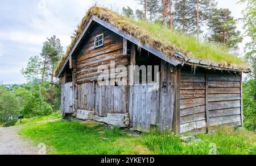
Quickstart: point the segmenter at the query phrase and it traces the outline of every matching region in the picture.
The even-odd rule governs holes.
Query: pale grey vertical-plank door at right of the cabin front
[[[159,84],[130,86],[129,111],[135,130],[150,131],[158,125]]]

